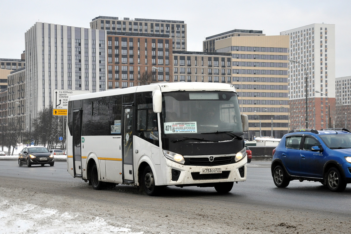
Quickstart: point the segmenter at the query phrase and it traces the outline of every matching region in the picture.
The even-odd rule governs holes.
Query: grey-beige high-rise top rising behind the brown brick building
[[[106,30],[115,35],[126,35],[126,33],[133,33],[134,36],[150,34],[148,36],[154,37],[167,35],[166,37],[172,39],[170,46],[173,50],[186,51],[186,24],[184,21],[139,18],[130,20],[130,18],[98,16],[90,22],[90,28]]]

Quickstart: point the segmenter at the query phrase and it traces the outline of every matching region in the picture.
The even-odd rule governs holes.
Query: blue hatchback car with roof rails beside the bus
[[[273,150],[271,171],[279,188],[307,180],[341,192],[351,183],[351,133],[345,128],[292,130]]]

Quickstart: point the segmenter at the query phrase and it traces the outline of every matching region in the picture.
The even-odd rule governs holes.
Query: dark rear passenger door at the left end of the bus
[[[81,156],[81,138],[82,138],[82,118],[81,110],[73,112],[73,169],[74,177],[82,177],[82,156]]]

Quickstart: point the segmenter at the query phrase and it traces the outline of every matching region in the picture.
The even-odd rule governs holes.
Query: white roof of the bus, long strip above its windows
[[[107,91],[79,94],[69,96],[69,100],[80,100],[88,98],[98,98],[103,96],[113,96],[126,93],[137,93],[153,91],[154,89],[161,90],[161,92],[172,91],[228,91],[236,92],[231,84],[226,83],[209,83],[209,82],[159,82],[150,85],[133,86],[128,88],[108,89]]]

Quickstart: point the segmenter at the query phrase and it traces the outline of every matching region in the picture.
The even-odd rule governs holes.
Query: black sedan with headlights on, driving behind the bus
[[[45,164],[54,166],[54,160],[54,156],[43,146],[28,146],[18,154],[18,166],[20,167],[23,164],[26,164],[27,167],[32,165],[44,166]]]

